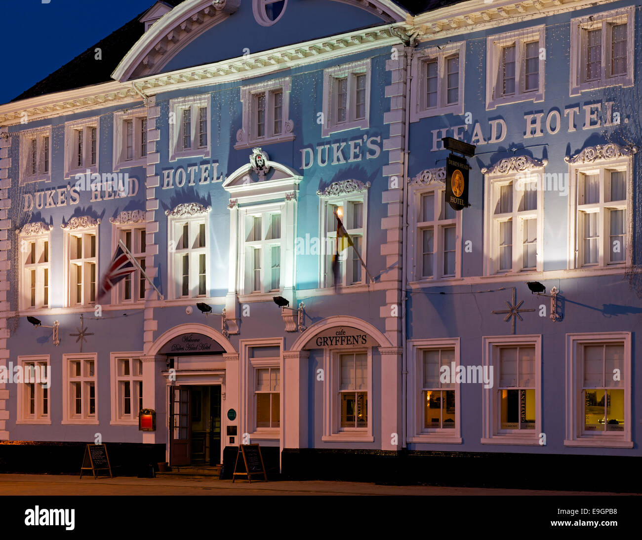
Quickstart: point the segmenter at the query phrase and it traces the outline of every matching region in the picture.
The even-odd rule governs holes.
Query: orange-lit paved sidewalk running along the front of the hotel
[[[259,482],[180,478],[0,475],[0,495],[617,495],[482,487],[376,485],[360,482]]]

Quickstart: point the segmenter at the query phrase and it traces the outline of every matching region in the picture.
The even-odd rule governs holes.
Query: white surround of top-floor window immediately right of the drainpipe
[[[458,55],[459,58],[459,82],[458,82],[458,99],[456,103],[446,104],[446,74],[445,63],[447,56]],[[426,71],[424,63],[427,60],[437,60],[437,106],[426,108],[422,103],[425,95]],[[410,80],[410,122],[417,122],[422,118],[441,116],[445,114],[464,114],[464,72],[466,60],[466,42],[458,42],[441,46],[415,49],[410,71],[412,78]]]

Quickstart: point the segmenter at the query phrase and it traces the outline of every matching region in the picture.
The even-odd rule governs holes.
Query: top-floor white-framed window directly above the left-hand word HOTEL
[[[209,158],[211,96],[177,97],[169,100],[169,161],[183,157]]]

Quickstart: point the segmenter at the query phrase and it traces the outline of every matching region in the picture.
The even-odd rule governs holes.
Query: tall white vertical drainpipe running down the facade
[[[402,244],[401,244],[401,253],[403,254],[403,263],[401,267],[401,373],[403,375],[403,387],[401,395],[403,396],[403,402],[401,404],[401,410],[403,411],[403,425],[401,426],[401,437],[402,437],[402,446],[401,448],[406,448],[406,432],[408,426],[408,355],[406,352],[406,283],[408,282],[406,276],[408,275],[407,271],[407,262],[408,262],[408,156],[410,155],[410,150],[408,149],[408,131],[410,130],[410,82],[412,81],[412,74],[410,72],[410,63],[412,61],[412,54],[417,47],[417,41],[415,37],[419,32],[413,33],[408,42],[405,43],[404,51],[406,53],[406,126],[403,140],[403,155],[404,155],[404,172],[402,181],[403,185],[403,210],[402,210]]]

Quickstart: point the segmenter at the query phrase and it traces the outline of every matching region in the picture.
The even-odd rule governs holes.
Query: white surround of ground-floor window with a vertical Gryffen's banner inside
[[[535,429],[499,432],[499,360],[494,361],[497,346],[535,346]],[[542,335],[496,335],[482,337],[482,363],[485,369],[493,366],[492,388],[482,387],[482,444],[539,444],[542,432]],[[525,433],[519,433],[523,431]]]

